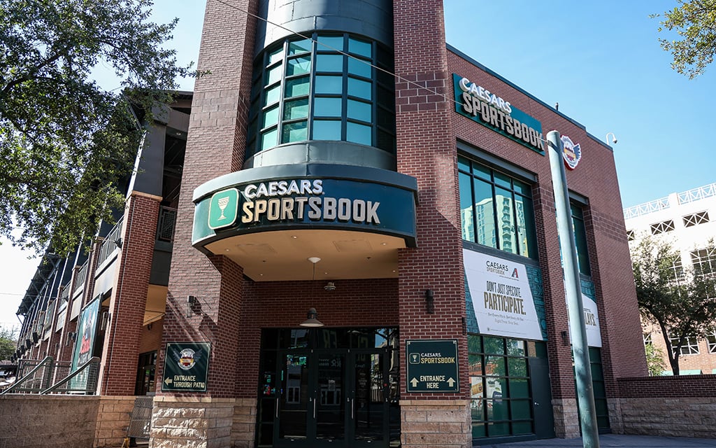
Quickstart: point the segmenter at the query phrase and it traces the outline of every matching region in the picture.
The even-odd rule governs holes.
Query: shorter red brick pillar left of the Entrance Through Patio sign
[[[134,395],[160,201],[158,196],[137,192],[127,201],[102,350],[100,395]]]

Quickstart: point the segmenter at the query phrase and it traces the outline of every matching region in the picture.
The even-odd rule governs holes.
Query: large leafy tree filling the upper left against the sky
[[[151,0],[0,0],[0,236],[67,254],[122,207],[141,130],[178,67]],[[92,80],[111,67],[121,91]],[[14,230],[21,229],[20,234]]]

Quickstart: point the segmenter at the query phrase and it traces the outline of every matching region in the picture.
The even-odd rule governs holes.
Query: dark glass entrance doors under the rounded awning
[[[385,350],[279,351],[274,447],[388,447]]]

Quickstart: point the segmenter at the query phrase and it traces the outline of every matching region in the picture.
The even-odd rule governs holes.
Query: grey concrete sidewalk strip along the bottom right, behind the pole
[[[511,448],[511,447],[574,447],[581,448],[582,439],[544,439],[529,442],[513,442],[505,444],[485,444],[484,448]],[[600,448],[703,448],[716,447],[716,439],[696,439],[694,437],[654,437],[635,436],[627,434],[600,434]]]

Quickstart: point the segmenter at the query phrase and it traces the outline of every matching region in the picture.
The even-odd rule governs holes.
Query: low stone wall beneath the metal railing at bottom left
[[[0,396],[0,448],[97,446],[99,409],[97,396]],[[121,441],[114,446],[120,447]]]

